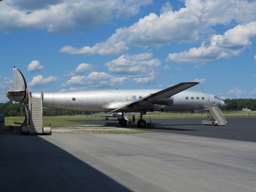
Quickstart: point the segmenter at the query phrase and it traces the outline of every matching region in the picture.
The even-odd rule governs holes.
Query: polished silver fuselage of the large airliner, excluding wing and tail
[[[88,90],[80,92],[55,92],[44,93],[43,107],[76,111],[110,112],[153,94],[160,90]],[[33,96],[38,96],[34,93]],[[118,112],[140,112],[141,110],[172,111],[172,110],[203,110],[204,104],[216,102],[219,107],[224,107],[223,100],[214,98],[213,94],[184,90],[165,100],[148,100],[133,108],[123,109]],[[192,99],[194,98],[194,99]]]

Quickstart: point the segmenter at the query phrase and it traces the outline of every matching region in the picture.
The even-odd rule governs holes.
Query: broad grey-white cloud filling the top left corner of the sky
[[[136,15],[141,6],[150,3],[151,0],[4,0],[0,6],[0,31],[88,30],[114,18]]]

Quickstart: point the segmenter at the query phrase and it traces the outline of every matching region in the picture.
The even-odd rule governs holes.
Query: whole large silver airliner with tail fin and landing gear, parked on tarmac
[[[25,103],[28,100],[27,84],[23,74],[13,68],[14,87],[8,90],[6,96],[10,100]],[[42,94],[42,106],[47,108],[122,113],[119,124],[126,125],[124,114],[140,112],[138,127],[146,127],[142,119],[147,111],[172,110],[204,110],[204,104],[216,102],[219,107],[226,103],[213,94],[186,90],[199,82],[182,82],[164,90],[86,90],[80,92],[54,92]],[[32,98],[40,97],[41,93],[32,93]]]

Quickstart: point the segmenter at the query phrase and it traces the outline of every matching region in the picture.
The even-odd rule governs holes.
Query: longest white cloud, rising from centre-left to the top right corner
[[[186,0],[185,7],[172,11],[170,4],[162,7],[160,16],[150,13],[129,27],[118,28],[105,42],[74,48],[64,46],[69,54],[120,54],[135,46],[159,46],[174,41],[196,42],[214,32],[212,26],[248,23],[256,20],[256,2],[223,0]],[[114,48],[113,48],[114,47]],[[118,48],[118,50],[116,50]]]

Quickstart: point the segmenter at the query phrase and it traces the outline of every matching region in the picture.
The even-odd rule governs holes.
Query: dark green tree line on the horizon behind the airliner
[[[256,99],[226,99],[228,104],[222,110],[242,110],[242,108],[248,108],[256,110]],[[23,106],[28,109],[28,104],[20,104],[9,100],[6,103],[0,103],[0,109],[5,110],[5,116],[24,116]],[[76,115],[76,114],[90,114],[90,112],[76,112],[69,110],[57,110],[50,108],[43,108],[43,116],[57,116],[57,115]]]

